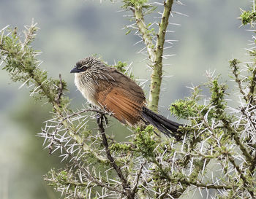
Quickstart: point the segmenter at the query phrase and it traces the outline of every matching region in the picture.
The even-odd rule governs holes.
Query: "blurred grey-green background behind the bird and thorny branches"
[[[176,56],[165,61],[171,64],[165,66],[165,75],[173,76],[166,77],[162,85],[159,111],[165,116],[169,114],[167,108],[172,101],[189,95],[187,86],[205,81],[206,70],[216,70],[216,74],[222,74],[222,81],[229,81],[228,61],[232,58],[244,61],[244,48],[251,38],[249,31],[239,28],[237,19],[240,8],[249,9],[249,1],[183,3],[186,6],[175,4],[173,10],[189,17],[174,14],[170,23],[181,26],[168,28],[175,33],[169,33],[167,38],[178,42],[167,50]],[[120,5],[110,1],[100,4],[85,0],[0,0],[0,29],[10,24],[22,31],[34,18],[40,30],[33,46],[43,52],[39,56],[43,61],[42,69],[54,78],[61,73],[69,85],[67,95],[73,99],[72,107],[80,108],[85,100],[75,89],[73,75],[69,74],[80,58],[97,53],[110,64],[133,62],[135,77],[150,77],[143,55],[136,53],[143,44],[134,45],[139,41],[138,36],[126,36],[126,31],[121,30],[129,24],[122,15],[129,13],[117,12]],[[35,136],[42,122],[50,118],[50,107],[34,104],[28,89],[18,90],[20,84],[12,83],[6,71],[1,71],[0,82],[0,198],[59,198],[59,194],[45,184],[42,175],[50,168],[63,167],[64,163],[59,164],[58,155],[49,156],[48,150],[43,150],[42,138]],[[146,84],[146,93],[148,89]],[[108,133],[122,132],[124,128],[112,121],[115,130]],[[117,139],[121,137],[124,135],[116,135]]]

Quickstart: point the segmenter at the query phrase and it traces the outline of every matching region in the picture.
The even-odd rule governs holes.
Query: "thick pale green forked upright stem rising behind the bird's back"
[[[159,93],[162,82],[162,58],[165,44],[165,34],[169,24],[170,12],[173,6],[173,0],[164,1],[164,11],[162,13],[161,21],[159,23],[159,30],[157,34],[157,42],[154,43],[151,31],[148,29],[144,20],[145,13],[143,12],[143,5],[138,7],[129,7],[132,9],[138,31],[140,32],[146,49],[148,52],[149,66],[152,67],[151,86],[148,97],[148,108],[154,112],[158,112]]]

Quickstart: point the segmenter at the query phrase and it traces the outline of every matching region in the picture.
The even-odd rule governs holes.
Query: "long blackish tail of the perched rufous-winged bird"
[[[178,132],[178,128],[182,126],[181,124],[168,120],[166,117],[152,112],[145,106],[143,106],[142,109],[142,117],[143,121],[146,122],[147,125],[148,123],[154,125],[155,128],[157,128],[162,133],[165,133],[166,136],[173,136],[176,139],[181,138],[181,132]]]

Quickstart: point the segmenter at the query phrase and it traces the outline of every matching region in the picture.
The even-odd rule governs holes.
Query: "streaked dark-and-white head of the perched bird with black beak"
[[[88,58],[84,58],[78,61],[75,64],[74,69],[72,69],[70,73],[83,73],[88,69],[94,69],[94,68],[100,67],[101,65],[102,65],[101,61],[99,61],[97,58],[90,56]]]

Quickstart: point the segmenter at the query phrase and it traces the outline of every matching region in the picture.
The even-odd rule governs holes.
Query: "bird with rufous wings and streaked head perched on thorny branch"
[[[89,56],[78,61],[70,73],[75,74],[75,86],[90,104],[112,113],[124,125],[151,124],[168,137],[181,137],[181,124],[148,109],[143,89],[116,68]]]

